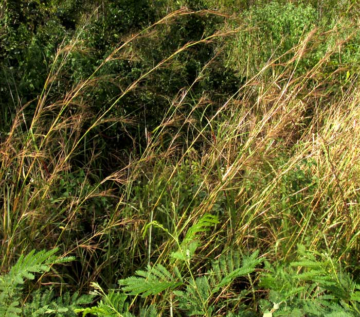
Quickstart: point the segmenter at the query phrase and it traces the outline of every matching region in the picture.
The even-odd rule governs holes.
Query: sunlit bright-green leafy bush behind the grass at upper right
[[[311,5],[293,2],[261,3],[242,12],[241,19],[250,30],[240,32],[237,41],[230,44],[235,51],[230,50],[228,62],[230,65],[230,61],[235,62],[241,70],[247,69],[251,72],[249,75],[255,75],[276,58],[280,58],[277,66],[281,73],[283,67],[280,65],[294,56],[294,47],[318,25],[317,11]],[[301,63],[297,67],[303,69],[316,60]],[[249,64],[253,65],[251,69],[248,69]]]

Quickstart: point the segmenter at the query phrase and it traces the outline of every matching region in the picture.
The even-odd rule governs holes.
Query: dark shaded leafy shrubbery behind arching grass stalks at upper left
[[[28,14],[29,6],[34,6],[36,17],[33,19]],[[3,65],[0,67],[0,83],[5,96],[0,100],[3,117],[10,117],[13,112],[11,110],[17,105],[14,98],[11,98],[10,91],[16,91],[21,96],[21,105],[36,99],[46,84],[49,69],[54,66],[56,69],[61,64],[61,78],[53,78],[55,82],[48,92],[48,98],[63,98],[71,87],[93,76],[94,69],[104,62],[116,47],[123,44],[130,33],[134,34],[154,23],[162,17],[159,14],[165,12],[165,8],[168,10],[165,3],[148,0],[102,1],[97,11],[91,14],[93,6],[86,0],[53,0],[48,3],[26,1],[21,5],[5,6],[4,37],[7,34],[5,38],[9,43],[4,42],[3,50],[0,47],[0,53],[4,51],[3,56],[0,56],[0,63]],[[15,29],[13,25],[17,15],[23,16],[24,19],[25,16],[28,17],[26,21],[22,19],[19,22],[21,27]],[[31,23],[37,26],[30,27]],[[169,26],[154,27],[154,35],[145,33],[142,38],[133,41],[126,47],[133,57],[111,58],[97,73],[97,84],[90,92],[86,92],[87,104],[91,105],[92,112],[102,113],[104,109],[109,108],[110,100],[118,98],[140,74],[150,71],[154,65],[171,56],[186,43],[199,41],[213,34],[223,23],[224,19],[217,14],[186,14],[173,19]],[[9,36],[11,32],[13,36]],[[74,43],[76,45],[64,60],[60,59],[54,65],[56,52],[61,43],[62,48],[71,47]],[[166,68],[158,69],[156,73],[149,75],[136,93],[130,92],[121,98],[107,117],[130,113],[139,118],[139,129],[124,129],[120,124],[114,123],[94,129],[93,133],[96,136],[104,130],[107,130],[105,135],[111,132],[109,138],[99,139],[103,151],[109,150],[109,147],[105,146],[109,142],[111,148],[116,151],[133,150],[129,146],[129,143],[132,145],[130,138],[139,139],[140,145],[143,146],[146,143],[143,137],[144,130],[151,131],[160,124],[160,118],[169,108],[168,100],[184,88],[184,83],[193,83],[202,67],[214,57],[217,46],[215,41],[211,41],[197,44],[196,49],[184,50],[182,54],[178,54],[176,62],[168,63]],[[125,49],[121,50],[121,54],[124,51]],[[200,96],[204,89],[216,99],[222,100],[224,96],[237,91],[242,77],[239,76],[239,79],[231,69],[219,71],[222,64],[223,61],[220,59],[218,70],[206,74],[208,81],[194,87],[195,95],[187,98],[189,104],[193,103],[194,97]],[[112,78],[110,82],[109,78]],[[33,105],[27,107],[26,112],[30,117],[33,111]],[[118,135],[128,135],[129,143],[119,142],[119,138],[116,137]],[[101,144],[98,147],[101,147]],[[110,153],[106,156],[112,157]]]

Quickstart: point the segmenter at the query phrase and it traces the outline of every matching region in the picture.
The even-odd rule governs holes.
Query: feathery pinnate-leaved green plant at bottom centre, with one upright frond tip
[[[183,242],[179,245],[181,250],[176,254],[186,252],[182,250],[184,245],[189,246],[193,241],[199,243],[197,234],[205,232],[216,223],[218,221],[214,216],[205,215],[202,217],[188,229]],[[187,252],[186,256],[186,259],[184,255],[180,259],[190,260],[194,254]],[[136,271],[134,276],[119,280],[119,285],[124,293],[110,291],[109,294],[105,294],[97,284],[93,284],[97,294],[102,295],[100,304],[92,308],[80,309],[78,312],[82,311],[83,315],[95,313],[98,316],[117,314],[131,316],[127,311],[129,306],[125,304],[128,295],[141,295],[147,301],[150,296],[159,296],[161,294],[171,303],[171,309],[173,309],[173,305],[176,311],[178,310],[188,316],[210,316],[215,309],[220,311],[224,310],[228,305],[231,306],[231,304],[226,304],[223,301],[219,302],[217,300],[218,296],[225,292],[230,293],[231,286],[235,285],[235,281],[239,283],[240,278],[243,278],[241,283],[245,286],[246,281],[250,279],[249,274],[254,273],[261,262],[262,259],[258,257],[258,252],[244,256],[242,259],[238,252],[229,252],[220,256],[218,260],[212,263],[210,270],[196,278],[190,266],[188,266],[188,275],[182,273],[176,264],[172,264],[167,269],[157,263],[154,266],[148,266],[147,270]],[[245,298],[248,293],[249,290],[243,288],[243,291],[236,295],[237,300]]]

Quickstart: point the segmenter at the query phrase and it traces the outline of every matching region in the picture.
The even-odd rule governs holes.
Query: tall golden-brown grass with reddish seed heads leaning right
[[[203,237],[195,263],[199,272],[209,258],[232,248],[291,260],[298,243],[327,250],[351,272],[358,271],[359,86],[355,75],[344,80],[346,69],[324,73],[347,39],[329,40],[312,67],[298,71],[324,39],[336,38],[341,25],[326,34],[314,29],[284,55],[251,69],[248,74],[255,75],[220,105],[206,92],[192,97],[215,57],[193,83],[169,96],[166,115],[158,127],[146,130],[140,153],[130,153],[109,175],[94,168],[102,154],[92,131],[104,122],[136,125],[131,115],[107,116],[121,98],[190,47],[233,41],[248,30],[246,25],[228,28],[179,47],[143,72],[109,108],[92,113],[85,93],[105,79],[97,75],[101,67],[136,58],[121,53],[186,14],[194,12],[175,11],[129,37],[91,77],[53,101],[48,93],[69,54],[80,49],[80,36],[59,48],[42,95],[17,109],[1,140],[3,271],[21,253],[58,246],[78,258],[59,272],[64,283],[80,290],[95,281],[112,287],[116,278],[166,261],[176,244],[171,236],[183,236],[207,213],[220,223]],[[184,111],[189,102],[191,110]],[[33,116],[26,117],[33,105]],[[85,162],[81,167],[79,157]]]

